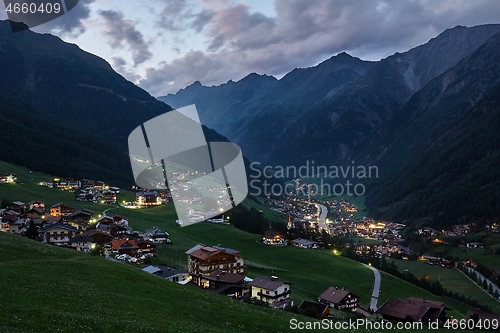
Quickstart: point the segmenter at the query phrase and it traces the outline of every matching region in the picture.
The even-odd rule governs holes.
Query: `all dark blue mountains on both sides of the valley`
[[[209,141],[270,165],[375,165],[369,214],[451,224],[500,216],[500,25],[457,26],[377,62],[340,53],[281,79],[195,82]],[[0,21],[0,159],[54,175],[133,183],[130,131],[172,108],[103,59]],[[221,133],[221,134],[219,134]],[[226,138],[227,137],[227,138]]]

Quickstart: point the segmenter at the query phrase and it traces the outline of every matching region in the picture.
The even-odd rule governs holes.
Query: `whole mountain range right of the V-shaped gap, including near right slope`
[[[500,216],[500,25],[457,26],[367,62],[341,53],[277,80],[251,74],[161,97],[269,165],[376,165],[370,214],[437,224]],[[477,146],[476,149],[471,147]],[[485,160],[486,158],[486,160]],[[495,201],[496,200],[496,201]]]

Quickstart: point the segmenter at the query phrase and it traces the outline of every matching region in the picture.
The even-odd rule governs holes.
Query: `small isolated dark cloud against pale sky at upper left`
[[[121,12],[114,10],[100,10],[99,15],[104,19],[103,34],[113,49],[127,44],[135,65],[152,57],[149,51],[150,43],[144,40],[142,34],[135,28],[134,22],[124,19]]]

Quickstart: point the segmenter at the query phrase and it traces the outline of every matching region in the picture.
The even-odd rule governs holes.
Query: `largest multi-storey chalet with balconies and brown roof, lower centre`
[[[189,255],[188,272],[192,276],[208,276],[219,269],[245,274],[245,262],[238,251],[200,245],[186,252]]]

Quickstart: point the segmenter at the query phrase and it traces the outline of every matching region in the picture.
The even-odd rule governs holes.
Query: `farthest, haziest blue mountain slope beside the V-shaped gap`
[[[174,107],[196,103],[205,125],[225,133],[246,155],[262,161],[272,150],[268,147],[275,143],[273,137],[286,133],[288,124],[360,78],[370,66],[371,62],[341,53],[315,67],[295,69],[279,81],[250,74],[217,87],[196,83],[160,100]]]

